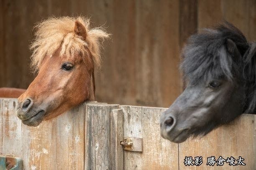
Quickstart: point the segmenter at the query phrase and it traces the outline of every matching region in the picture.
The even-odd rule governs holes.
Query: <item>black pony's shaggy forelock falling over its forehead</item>
[[[235,26],[224,22],[215,29],[203,29],[202,32],[189,37],[182,50],[181,70],[192,84],[207,77],[225,76],[233,79],[235,63],[225,47],[227,40],[232,40],[244,55],[249,45],[246,37]]]

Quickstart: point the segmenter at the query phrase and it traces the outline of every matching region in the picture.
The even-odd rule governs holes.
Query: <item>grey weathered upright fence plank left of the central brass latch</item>
[[[87,104],[86,116],[86,138],[84,145],[85,158],[84,167],[86,170],[111,170],[122,166],[120,158],[121,149],[116,143],[120,143],[120,129],[122,125],[121,112],[112,112],[118,109],[118,105],[95,105]],[[114,118],[114,115],[119,115]],[[119,121],[119,122],[118,122]],[[118,141],[117,141],[118,140]],[[114,148],[111,148],[114,147]],[[115,155],[115,152],[118,155]]]

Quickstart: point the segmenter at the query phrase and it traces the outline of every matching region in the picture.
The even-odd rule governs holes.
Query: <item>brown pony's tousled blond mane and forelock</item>
[[[86,40],[74,33],[75,21],[79,21],[86,28]],[[92,54],[96,66],[100,66],[100,40],[108,38],[109,34],[102,28],[90,29],[90,20],[84,17],[60,17],[49,18],[38,23],[36,26],[36,38],[30,49],[31,67],[34,72],[38,71],[41,62],[46,55],[51,56],[57,49],[61,49],[60,56],[72,57],[77,52],[82,56],[88,48]]]

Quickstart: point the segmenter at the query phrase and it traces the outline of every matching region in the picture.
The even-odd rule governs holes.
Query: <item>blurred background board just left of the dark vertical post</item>
[[[167,106],[181,90],[179,1],[143,0],[136,1],[135,7],[135,104]]]

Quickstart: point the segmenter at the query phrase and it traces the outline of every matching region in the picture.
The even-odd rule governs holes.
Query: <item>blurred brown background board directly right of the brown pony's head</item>
[[[102,67],[95,74],[96,97],[110,103],[135,104],[136,100],[136,9],[135,0],[88,2],[93,25],[104,24],[111,40],[104,42]],[[126,77],[126,78],[123,78]],[[112,90],[105,90],[112,89]],[[111,92],[115,90],[115,93]]]

